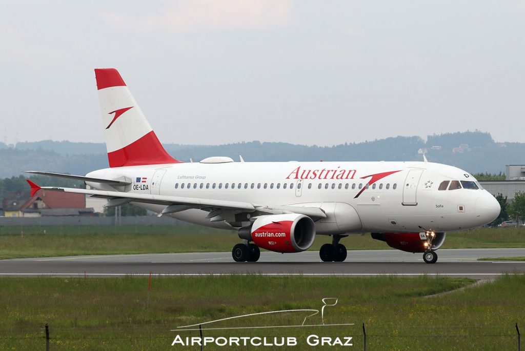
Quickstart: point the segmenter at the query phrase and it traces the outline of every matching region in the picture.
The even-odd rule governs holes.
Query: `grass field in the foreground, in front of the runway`
[[[204,336],[295,336],[295,349],[324,349],[306,345],[310,334],[352,336],[351,349],[362,349],[364,323],[368,350],[517,349],[514,324],[525,326],[525,276],[506,275],[457,290],[472,282],[442,277],[153,277],[148,302],[148,277],[0,278],[0,349],[43,349],[45,323],[52,350],[198,349],[170,347],[176,334],[198,336],[170,329],[249,313],[320,309],[324,297],[339,299],[325,309],[325,324],[355,325],[205,330]],[[214,327],[295,325],[308,314],[248,317]],[[321,323],[319,314],[306,324]]]

